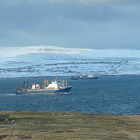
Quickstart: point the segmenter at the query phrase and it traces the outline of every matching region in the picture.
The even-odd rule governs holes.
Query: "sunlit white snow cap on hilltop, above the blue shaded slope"
[[[15,57],[28,53],[78,54],[91,49],[62,48],[55,46],[1,47],[0,58]]]

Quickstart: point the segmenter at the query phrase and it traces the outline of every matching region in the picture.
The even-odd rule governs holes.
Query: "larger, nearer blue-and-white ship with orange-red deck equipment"
[[[72,86],[67,86],[67,81],[63,80],[61,85],[58,85],[57,78],[55,81],[52,81],[50,84],[48,80],[44,81],[44,85],[40,86],[38,83],[32,84],[32,88],[29,87],[28,81],[25,81],[23,88],[20,86],[15,88],[16,94],[68,94]]]

